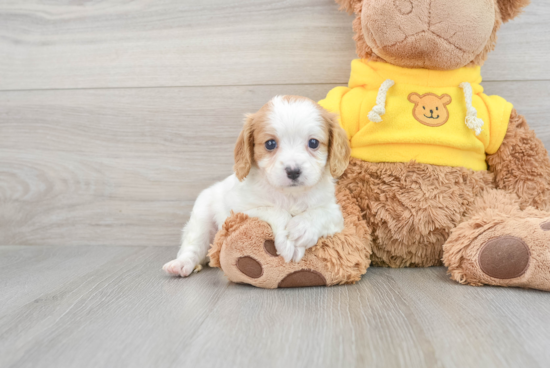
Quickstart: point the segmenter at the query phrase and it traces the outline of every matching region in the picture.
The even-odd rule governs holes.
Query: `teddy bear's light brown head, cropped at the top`
[[[439,70],[481,65],[530,0],[336,0],[357,17],[360,58]]]

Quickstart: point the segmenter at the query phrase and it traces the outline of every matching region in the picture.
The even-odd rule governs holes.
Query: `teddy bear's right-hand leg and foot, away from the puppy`
[[[443,246],[453,280],[550,291],[550,213],[520,203],[502,190],[476,200]]]

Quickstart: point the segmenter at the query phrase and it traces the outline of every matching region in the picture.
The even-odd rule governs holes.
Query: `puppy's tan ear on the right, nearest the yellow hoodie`
[[[334,178],[342,176],[349,164],[351,149],[348,136],[339,123],[339,117],[323,110],[323,119],[328,125],[328,165]]]

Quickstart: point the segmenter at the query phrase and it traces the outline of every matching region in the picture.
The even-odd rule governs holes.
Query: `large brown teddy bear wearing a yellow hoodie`
[[[471,285],[550,290],[550,161],[512,105],[483,94],[480,66],[529,0],[337,0],[354,12],[340,114],[352,159],[337,198],[345,229],[298,263],[269,225],[230,217],[210,265],[263,288],[358,281],[370,265],[444,264]]]

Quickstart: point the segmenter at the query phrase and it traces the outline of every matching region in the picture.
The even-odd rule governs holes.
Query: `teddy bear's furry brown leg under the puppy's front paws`
[[[370,264],[370,231],[349,192],[339,189],[344,214],[341,233],[322,238],[300,262],[285,263],[277,255],[270,226],[242,213],[227,219],[209,252],[210,265],[220,267],[235,283],[275,289],[354,283]]]

